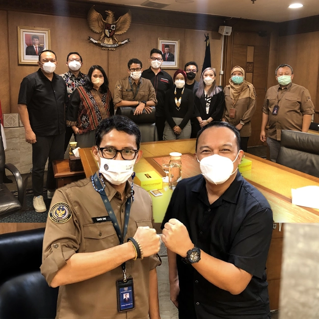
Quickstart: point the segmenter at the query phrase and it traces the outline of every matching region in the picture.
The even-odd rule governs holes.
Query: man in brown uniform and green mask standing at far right
[[[281,130],[308,132],[312,114],[315,112],[309,91],[292,83],[293,70],[290,65],[279,65],[275,76],[279,85],[267,90],[260,133],[261,141],[267,141],[270,160],[274,162],[279,152]],[[265,129],[268,122],[266,138]]]

